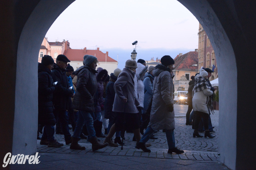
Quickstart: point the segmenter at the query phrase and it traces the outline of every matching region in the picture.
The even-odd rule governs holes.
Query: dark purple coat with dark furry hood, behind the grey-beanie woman
[[[95,112],[101,112],[101,108],[103,108],[104,105],[104,98],[103,98],[103,91],[104,91],[104,86],[103,86],[103,82],[106,79],[106,77],[108,76],[108,71],[99,67],[97,69],[96,73],[96,80],[97,80],[97,92],[94,96],[94,108],[95,108]],[[104,76],[101,80],[101,77]]]

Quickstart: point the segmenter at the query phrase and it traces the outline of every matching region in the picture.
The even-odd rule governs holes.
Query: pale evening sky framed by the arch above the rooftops
[[[199,22],[176,0],[73,2],[52,24],[49,42],[66,39],[72,49],[97,47],[124,67],[136,47],[137,59],[175,58],[198,48]],[[83,57],[83,56],[81,56]]]

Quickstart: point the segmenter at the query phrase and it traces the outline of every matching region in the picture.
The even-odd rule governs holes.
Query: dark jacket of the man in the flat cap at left
[[[73,95],[74,91],[69,90],[70,86],[65,69],[54,64],[52,69],[52,79],[54,82],[58,82],[56,85],[58,88],[53,94],[54,107],[59,110],[68,110],[68,100]]]

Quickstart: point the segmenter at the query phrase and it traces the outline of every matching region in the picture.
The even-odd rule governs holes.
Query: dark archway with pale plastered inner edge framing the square
[[[38,56],[41,41],[51,24],[73,1],[3,2],[0,21],[5,23],[1,26],[1,31],[5,34],[1,33],[1,52],[3,56],[9,56],[4,58],[3,69],[10,71],[1,80],[5,84],[5,91],[2,93],[5,100],[1,102],[1,117],[5,121],[1,119],[0,127],[3,132],[9,132],[3,133],[0,139],[1,143],[8,141],[0,154],[1,159],[7,152],[14,155],[36,152],[37,57],[34,56]],[[222,94],[219,112],[219,161],[231,169],[255,167],[255,155],[251,152],[256,150],[252,142],[255,137],[248,129],[255,129],[255,110],[252,107],[255,100],[250,98],[256,92],[255,88],[249,88],[249,83],[237,81],[238,78],[250,79],[250,74],[246,73],[250,72],[249,68],[253,68],[255,63],[253,58],[256,50],[250,49],[248,45],[256,45],[252,39],[256,33],[251,31],[256,27],[255,20],[251,19],[255,15],[254,5],[228,0],[218,3],[210,0],[178,1],[199,20],[215,49],[220,73],[219,91]],[[236,64],[238,62],[239,69]],[[225,76],[226,74],[232,76]],[[244,96],[238,88],[243,89],[243,93],[248,92],[248,95]]]

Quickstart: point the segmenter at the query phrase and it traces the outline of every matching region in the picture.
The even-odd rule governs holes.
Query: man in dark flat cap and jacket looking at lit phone
[[[66,144],[71,143],[71,134],[69,133],[68,115],[66,111],[68,110],[69,98],[73,97],[74,94],[74,91],[69,89],[70,85],[68,77],[66,76],[68,62],[70,62],[70,60],[65,55],[60,54],[57,56],[56,64],[54,64],[52,69],[52,78],[54,82],[58,82],[56,85],[58,86],[58,90],[56,90],[53,95],[54,114],[57,122],[59,121],[61,125],[61,128],[59,126],[56,127],[56,133],[64,134]]]

